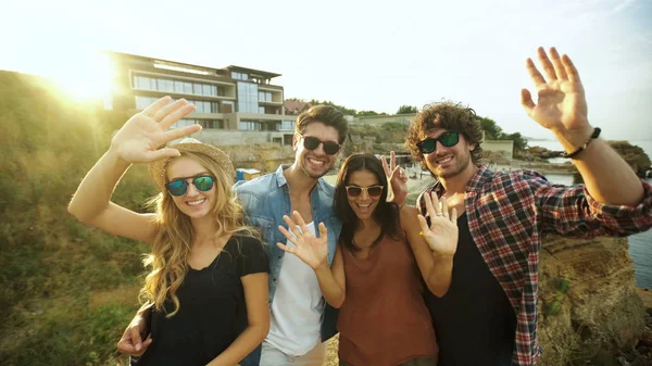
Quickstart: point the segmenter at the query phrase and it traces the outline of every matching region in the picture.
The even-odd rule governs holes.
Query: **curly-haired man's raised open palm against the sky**
[[[555,48],[550,49],[550,58],[543,48],[537,51],[548,80],[532,60],[527,59],[526,67],[537,89],[538,101],[535,104],[529,90],[522,89],[523,108],[539,125],[570,144],[584,143],[592,127],[588,122],[587,99],[577,68],[566,54],[560,58]]]

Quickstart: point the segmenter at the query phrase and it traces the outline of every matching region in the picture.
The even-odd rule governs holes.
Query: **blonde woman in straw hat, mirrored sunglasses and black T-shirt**
[[[185,100],[170,102],[165,97],[127,121],[82,181],[68,212],[152,244],[141,291],[151,303],[150,337],[127,352],[145,352],[138,365],[236,365],[269,329],[268,258],[258,232],[244,224],[226,154],[192,139],[159,150],[200,130],[197,125],[168,130],[195,110]],[[148,163],[161,190],[155,214],[111,202],[133,163]]]

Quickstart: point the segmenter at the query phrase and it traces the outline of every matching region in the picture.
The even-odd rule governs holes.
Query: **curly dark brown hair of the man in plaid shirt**
[[[468,143],[474,143],[475,149],[471,152],[471,159],[478,165],[482,159],[482,126],[473,109],[443,101],[424,105],[423,110],[416,114],[408,129],[405,147],[410,150],[412,157],[419,162],[424,169],[427,169],[424,155],[416,143],[425,138],[428,132],[435,128],[444,128],[447,130],[460,131]]]

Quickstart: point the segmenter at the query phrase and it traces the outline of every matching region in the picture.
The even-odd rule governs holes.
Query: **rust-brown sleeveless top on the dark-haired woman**
[[[351,366],[397,366],[438,354],[421,273],[405,240],[385,237],[364,260],[342,250],[347,298],[337,327],[339,358]]]

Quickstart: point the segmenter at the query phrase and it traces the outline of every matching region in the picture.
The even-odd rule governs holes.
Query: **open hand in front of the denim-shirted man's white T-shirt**
[[[315,270],[327,267],[328,230],[324,223],[319,223],[319,237],[316,238],[310,232],[308,225],[305,225],[305,222],[299,212],[292,212],[292,219],[287,215],[284,215],[283,220],[288,225],[291,232],[283,226],[278,226],[278,230],[294,244],[294,248],[290,248],[279,242],[276,243],[276,245],[288,253],[297,255],[303,263]]]

